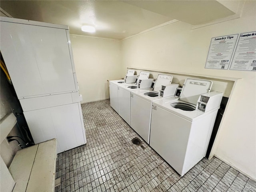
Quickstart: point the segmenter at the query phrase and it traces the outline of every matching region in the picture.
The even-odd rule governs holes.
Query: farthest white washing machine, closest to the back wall
[[[134,76],[135,70],[129,69],[127,71],[127,74],[124,79],[131,78],[129,79],[129,83],[135,83],[136,82],[136,77]],[[109,95],[110,95],[110,106],[118,112],[118,85],[119,84],[125,84],[124,79],[120,80],[111,80],[109,81]]]

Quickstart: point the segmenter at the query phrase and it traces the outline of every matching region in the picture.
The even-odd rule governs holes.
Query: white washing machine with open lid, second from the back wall
[[[148,78],[149,72],[140,72],[136,84],[118,85],[118,114],[130,125],[130,92],[140,88],[149,88],[154,79]]]

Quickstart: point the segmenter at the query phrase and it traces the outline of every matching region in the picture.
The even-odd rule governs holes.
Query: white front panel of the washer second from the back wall
[[[118,114],[130,125],[130,92],[118,89]]]

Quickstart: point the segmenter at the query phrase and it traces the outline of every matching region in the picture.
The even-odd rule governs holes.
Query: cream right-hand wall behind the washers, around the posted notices
[[[236,84],[220,125],[214,153],[256,178],[256,72],[205,69],[212,37],[256,30],[256,1],[246,1],[241,18],[192,30],[176,22],[122,41],[126,67],[242,78]]]

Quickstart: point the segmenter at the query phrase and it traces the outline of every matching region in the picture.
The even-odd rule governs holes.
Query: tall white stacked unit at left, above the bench
[[[1,52],[35,143],[86,144],[68,26],[1,17]]]

